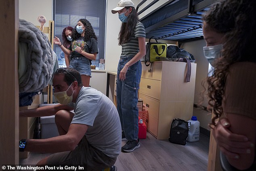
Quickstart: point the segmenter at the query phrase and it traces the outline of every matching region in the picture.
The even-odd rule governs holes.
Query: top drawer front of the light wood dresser
[[[153,62],[152,71],[149,72],[151,64],[147,67],[145,63],[141,63],[142,65],[142,78],[156,79],[161,80],[162,78],[162,62]]]

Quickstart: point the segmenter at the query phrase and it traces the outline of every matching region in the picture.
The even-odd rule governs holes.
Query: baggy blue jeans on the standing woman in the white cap
[[[121,57],[118,63],[116,98],[122,130],[129,141],[138,139],[138,89],[141,81],[141,61],[134,63],[126,72],[124,81],[120,71],[133,56]]]

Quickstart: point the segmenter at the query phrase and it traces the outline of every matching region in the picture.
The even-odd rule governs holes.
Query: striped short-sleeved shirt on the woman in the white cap
[[[129,42],[122,44],[122,54],[121,56],[135,56],[140,50],[138,48],[138,38],[145,38],[145,28],[144,25],[138,21],[134,29],[134,35]]]

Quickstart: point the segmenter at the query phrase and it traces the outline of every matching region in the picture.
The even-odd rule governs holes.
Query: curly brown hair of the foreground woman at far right
[[[223,113],[222,100],[230,65],[242,61],[256,62],[255,16],[255,0],[219,0],[203,15],[203,21],[214,31],[224,33],[225,40],[221,56],[215,61],[214,74],[207,78],[208,104],[215,115],[213,125]]]

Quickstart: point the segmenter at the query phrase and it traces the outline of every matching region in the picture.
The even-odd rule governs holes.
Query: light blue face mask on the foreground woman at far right
[[[220,57],[220,51],[222,50],[222,44],[215,46],[205,46],[204,47],[204,56],[208,62],[214,67],[214,60]]]

